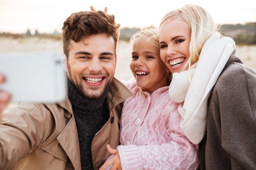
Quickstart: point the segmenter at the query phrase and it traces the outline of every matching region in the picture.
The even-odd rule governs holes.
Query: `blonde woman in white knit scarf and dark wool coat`
[[[160,55],[173,74],[169,95],[180,125],[199,144],[200,168],[256,169],[256,72],[234,55],[211,15],[186,5],[159,26]]]

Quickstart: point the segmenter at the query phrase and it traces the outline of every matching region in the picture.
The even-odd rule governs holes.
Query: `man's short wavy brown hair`
[[[119,38],[119,26],[115,23],[115,16],[109,15],[103,11],[82,11],[72,13],[63,23],[62,41],[63,52],[68,58],[70,40],[79,42],[83,38],[98,33],[106,33],[113,37],[115,41],[115,52],[117,50],[117,42]]]

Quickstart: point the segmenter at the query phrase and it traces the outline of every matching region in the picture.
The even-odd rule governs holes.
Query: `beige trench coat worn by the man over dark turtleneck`
[[[110,118],[92,140],[94,169],[119,144],[121,103],[132,93],[114,79],[106,99]],[[95,115],[97,116],[97,115]],[[68,98],[58,104],[21,103],[0,121],[0,170],[81,170],[79,140]]]

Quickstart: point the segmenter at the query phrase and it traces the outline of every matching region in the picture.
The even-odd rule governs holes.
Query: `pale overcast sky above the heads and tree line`
[[[168,11],[185,4],[204,7],[218,24],[256,22],[256,0],[0,0],[0,32],[61,31],[70,14],[90,11],[90,5],[107,6],[121,28],[158,26]]]

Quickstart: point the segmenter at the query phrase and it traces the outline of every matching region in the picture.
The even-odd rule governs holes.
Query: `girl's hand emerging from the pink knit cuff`
[[[108,159],[99,170],[105,170],[108,168],[108,166],[113,165],[110,170],[122,170],[121,161],[119,157],[119,153],[116,149],[111,148],[109,145],[107,145],[107,150],[110,152],[110,154],[115,155],[111,159]]]

